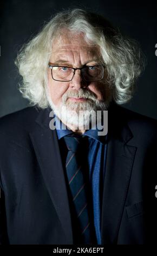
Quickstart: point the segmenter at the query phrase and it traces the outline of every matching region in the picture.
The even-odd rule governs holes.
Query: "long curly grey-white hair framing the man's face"
[[[19,90],[31,105],[49,106],[47,97],[48,63],[53,40],[63,28],[71,33],[83,32],[86,41],[100,46],[107,68],[108,83],[117,104],[128,102],[134,92],[136,78],[145,66],[145,57],[138,43],[127,39],[102,16],[82,9],[56,14],[28,44],[23,45],[15,64],[23,82]]]

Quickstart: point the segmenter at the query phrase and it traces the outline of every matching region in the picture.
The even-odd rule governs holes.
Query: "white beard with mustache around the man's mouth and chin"
[[[70,102],[68,97],[85,97],[84,102]],[[97,111],[107,110],[108,102],[99,101],[93,93],[80,89],[77,92],[68,92],[63,95],[60,106],[55,106],[49,97],[51,109],[57,117],[66,125],[73,126],[75,130],[88,130],[95,126]]]

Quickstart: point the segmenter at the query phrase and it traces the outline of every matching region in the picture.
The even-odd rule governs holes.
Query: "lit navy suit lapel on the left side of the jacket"
[[[49,111],[41,111],[34,127],[30,132],[30,138],[35,149],[38,163],[48,189],[50,198],[54,204],[58,218],[62,224],[68,243],[73,243],[73,235],[70,220],[70,210],[66,189],[66,181],[62,167],[60,149],[56,131],[49,128]]]

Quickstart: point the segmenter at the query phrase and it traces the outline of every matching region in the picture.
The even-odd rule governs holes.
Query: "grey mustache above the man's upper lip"
[[[96,101],[96,96],[93,92],[80,88],[79,90],[71,90],[67,93],[65,93],[62,97],[63,102],[66,102],[68,97],[82,97],[85,99]]]

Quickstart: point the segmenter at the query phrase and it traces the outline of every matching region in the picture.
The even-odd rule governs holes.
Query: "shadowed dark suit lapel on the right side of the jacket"
[[[116,243],[136,153],[136,147],[127,145],[133,137],[129,127],[116,118],[109,121],[101,222],[103,244]]]

